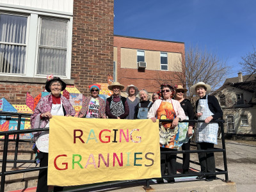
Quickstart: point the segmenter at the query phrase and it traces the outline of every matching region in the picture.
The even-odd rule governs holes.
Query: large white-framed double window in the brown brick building
[[[29,12],[0,12],[0,76],[70,79],[72,16]]]

